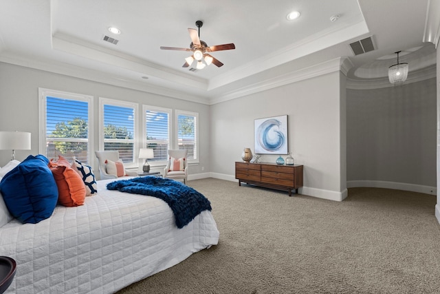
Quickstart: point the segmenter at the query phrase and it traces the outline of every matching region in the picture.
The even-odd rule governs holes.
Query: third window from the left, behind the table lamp
[[[170,148],[171,109],[144,105],[144,138],[142,146],[154,150],[154,158],[148,161],[166,161]]]

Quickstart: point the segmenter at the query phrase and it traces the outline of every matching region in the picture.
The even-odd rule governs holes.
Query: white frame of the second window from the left
[[[126,108],[133,108],[133,161],[124,162],[126,168],[139,167],[139,124],[137,123],[137,115],[139,113],[139,104],[118,99],[99,97],[99,150],[104,151],[104,105],[112,105]]]

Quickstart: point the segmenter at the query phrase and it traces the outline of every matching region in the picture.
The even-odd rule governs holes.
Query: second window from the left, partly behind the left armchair
[[[100,98],[100,150],[117,150],[127,167],[137,166],[137,103]]]

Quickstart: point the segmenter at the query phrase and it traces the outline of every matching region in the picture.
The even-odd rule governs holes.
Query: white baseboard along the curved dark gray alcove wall
[[[386,182],[383,180],[350,180],[347,182],[347,188],[356,187],[385,188],[437,195],[437,187],[406,184],[404,182]]]

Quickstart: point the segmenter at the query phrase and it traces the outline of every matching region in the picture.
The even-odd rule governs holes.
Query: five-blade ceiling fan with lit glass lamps
[[[196,29],[188,28],[188,32],[190,33],[191,43],[190,48],[176,48],[176,47],[163,47],[162,50],[179,50],[179,51],[191,51],[193,52],[191,56],[186,57],[185,63],[182,67],[189,67],[192,63],[196,63],[195,68],[197,70],[201,70],[206,65],[210,65],[214,63],[217,67],[221,67],[223,63],[221,63],[214,56],[211,56],[209,52],[221,51],[221,50],[231,50],[235,49],[234,43],[223,44],[223,45],[214,45],[208,46],[204,41],[200,40],[200,28],[203,25],[202,21],[196,21],[195,25],[199,28],[199,32]]]

